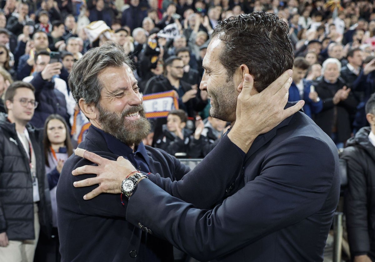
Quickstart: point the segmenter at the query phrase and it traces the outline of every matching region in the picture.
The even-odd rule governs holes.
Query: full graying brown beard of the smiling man
[[[145,117],[142,105],[132,106],[124,110],[121,114],[118,114],[106,111],[98,104],[98,111],[98,120],[102,126],[102,130],[113,135],[124,144],[127,144],[127,146],[137,146],[150,132],[151,125]],[[126,115],[137,111],[141,118],[135,121],[126,120]]]

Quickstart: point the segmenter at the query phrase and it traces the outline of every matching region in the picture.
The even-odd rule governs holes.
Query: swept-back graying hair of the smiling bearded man
[[[124,49],[114,42],[105,42],[102,46],[91,48],[84,56],[74,63],[69,74],[69,87],[78,104],[83,98],[86,104],[98,105],[101,98],[103,83],[98,74],[106,67],[122,67],[124,64],[133,67]]]

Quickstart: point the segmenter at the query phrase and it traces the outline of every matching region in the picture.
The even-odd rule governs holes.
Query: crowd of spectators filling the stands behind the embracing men
[[[260,10],[290,27],[289,101],[304,99],[306,114],[338,148],[368,125],[365,104],[375,92],[372,0],[5,0],[0,8],[0,95],[13,81],[31,83],[39,105],[30,123],[42,128],[57,114],[73,146],[89,124],[70,92],[69,73],[87,50],[111,40],[131,57],[144,95],[173,90],[178,101],[179,110],[150,119],[144,143],[183,157],[207,155],[229,128],[209,115],[210,98],[199,90],[213,28],[222,18]],[[56,175],[61,167],[52,170]]]

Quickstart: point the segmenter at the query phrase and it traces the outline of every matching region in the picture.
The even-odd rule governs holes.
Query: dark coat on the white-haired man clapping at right
[[[314,82],[315,91],[317,91],[321,100],[323,100],[323,109],[315,115],[315,123],[329,136],[332,135],[335,112],[337,111],[336,129],[338,141],[345,142],[351,135],[352,116],[356,111],[357,100],[352,92],[346,100],[340,101],[337,105],[333,104],[333,97],[336,92],[345,86],[345,83],[339,78],[335,84],[327,83],[323,77]]]

